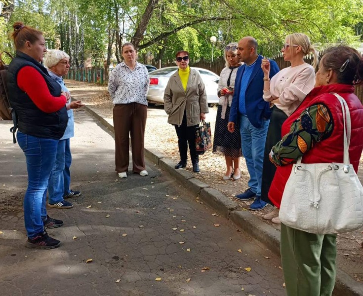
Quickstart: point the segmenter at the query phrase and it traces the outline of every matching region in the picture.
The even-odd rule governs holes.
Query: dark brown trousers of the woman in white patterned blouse
[[[131,138],[132,172],[145,170],[144,134],[147,106],[130,103],[114,107],[116,172],[127,172],[129,162],[129,136]]]

